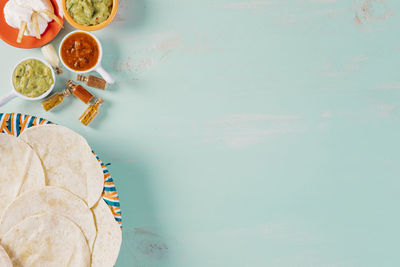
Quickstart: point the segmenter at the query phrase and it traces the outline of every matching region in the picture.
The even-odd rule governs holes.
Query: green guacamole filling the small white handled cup
[[[14,70],[15,90],[27,97],[38,97],[53,85],[51,69],[37,59],[27,59]]]

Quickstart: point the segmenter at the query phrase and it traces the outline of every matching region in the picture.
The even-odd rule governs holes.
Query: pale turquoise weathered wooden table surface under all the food
[[[397,0],[122,0],[91,127],[72,99],[0,111],[111,163],[117,266],[400,266],[399,25]],[[0,44],[1,94],[31,55]]]

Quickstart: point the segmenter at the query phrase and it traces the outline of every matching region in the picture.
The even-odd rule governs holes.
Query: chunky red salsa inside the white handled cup
[[[77,32],[68,36],[61,45],[61,57],[71,69],[86,71],[99,60],[99,44],[87,33]]]

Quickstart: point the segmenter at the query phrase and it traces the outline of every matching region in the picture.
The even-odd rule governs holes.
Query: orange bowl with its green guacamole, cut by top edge
[[[65,18],[75,28],[99,30],[114,18],[118,0],[63,0]]]

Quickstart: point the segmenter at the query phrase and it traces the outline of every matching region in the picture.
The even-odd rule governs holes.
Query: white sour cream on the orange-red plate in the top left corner
[[[4,6],[4,18],[8,25],[19,29],[22,21],[26,21],[25,35],[36,36],[33,21],[33,12],[50,10],[54,12],[50,0],[9,0]],[[52,19],[46,14],[40,13],[37,16],[40,34],[46,30]]]

